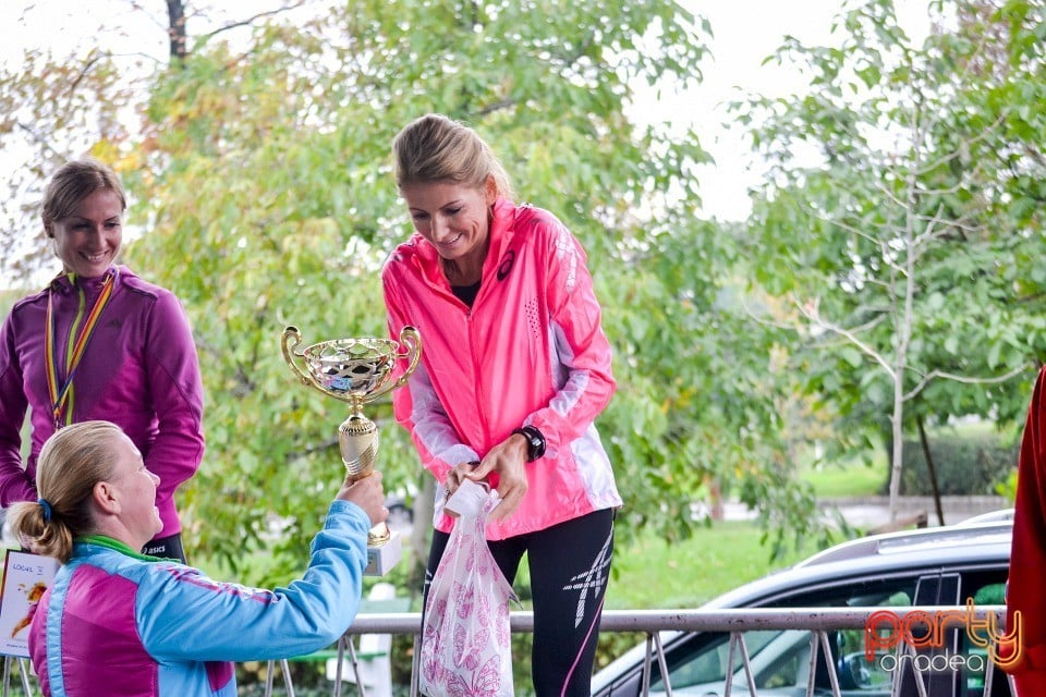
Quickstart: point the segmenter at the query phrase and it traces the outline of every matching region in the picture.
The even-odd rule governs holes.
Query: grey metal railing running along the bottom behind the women
[[[755,675],[751,664],[747,644],[744,634],[754,631],[788,631],[798,629],[810,632],[810,656],[808,656],[808,682],[806,686],[806,697],[813,697],[815,694],[814,675],[818,659],[822,665],[830,667],[828,678],[830,683],[830,694],[834,697],[841,697],[840,682],[837,674],[838,665],[835,660],[825,661],[823,657],[831,657],[831,647],[829,633],[843,629],[865,631],[869,620],[875,613],[889,611],[899,621],[903,621],[911,613],[924,613],[919,616],[944,616],[942,613],[971,613],[969,616],[977,621],[984,621],[989,615],[994,616],[996,626],[1001,629],[1005,626],[1006,609],[1001,606],[989,606],[973,609],[971,607],[889,607],[889,608],[788,608],[788,609],[738,609],[738,610],[607,610],[603,613],[600,622],[600,633],[640,633],[646,634],[646,651],[643,659],[643,674],[641,695],[648,695],[650,680],[654,673],[653,667],[656,662],[661,676],[662,690],[667,697],[671,697],[672,687],[669,684],[669,670],[667,667],[665,647],[661,644],[660,633],[665,631],[679,632],[717,632],[728,633],[730,644],[728,649],[728,660],[725,670],[723,697],[730,697],[733,690],[734,674],[741,672],[745,680],[745,688],[750,697],[757,697],[758,690],[755,683]],[[530,612],[513,612],[510,615],[513,633],[533,633],[534,616]],[[333,681],[333,697],[341,697],[346,681],[342,674],[343,660],[349,659],[349,665],[353,671],[356,694],[360,697],[366,697],[366,687],[362,680],[360,659],[356,656],[352,639],[364,634],[389,634],[389,635],[413,635],[414,636],[414,665],[411,671],[411,697],[416,697],[417,692],[417,657],[421,639],[421,613],[417,612],[391,612],[376,614],[360,614],[356,616],[350,629],[342,636],[337,647],[337,674]],[[911,653],[914,649],[909,644],[899,643],[897,646],[897,657],[900,659],[905,652]],[[271,697],[273,689],[273,676],[276,674],[276,664],[280,663],[283,673],[283,684],[287,697],[294,697],[294,686],[289,671],[288,661],[269,661],[266,677],[265,695]],[[22,677],[24,694],[34,694],[29,686],[31,671],[25,659],[17,659],[14,663],[19,668]],[[8,695],[12,660],[4,660],[3,668],[3,697]],[[984,672],[984,695],[993,694],[992,688],[996,680],[1010,681],[1010,694],[1015,694],[1012,686],[1012,677],[1000,677],[993,661],[986,661]],[[919,697],[927,696],[927,686],[921,672],[915,671],[914,688]],[[1005,674],[1004,674],[1005,675]],[[891,695],[900,696],[900,681],[893,681]],[[907,697],[907,696],[905,696]]]

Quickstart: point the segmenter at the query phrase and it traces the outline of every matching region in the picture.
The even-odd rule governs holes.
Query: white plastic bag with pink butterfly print
[[[465,480],[447,502],[460,514],[428,590],[421,692],[427,697],[512,697],[509,600],[485,528],[497,491]]]

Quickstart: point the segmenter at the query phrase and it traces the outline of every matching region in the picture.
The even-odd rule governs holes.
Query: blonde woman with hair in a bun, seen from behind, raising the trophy
[[[108,421],[68,426],[44,444],[39,501],[9,516],[25,547],[62,564],[29,628],[46,696],[232,696],[233,661],[309,653],[355,617],[367,530],[388,516],[379,474],[342,486],[304,576],[276,590],[138,552],[162,527],[158,484]]]

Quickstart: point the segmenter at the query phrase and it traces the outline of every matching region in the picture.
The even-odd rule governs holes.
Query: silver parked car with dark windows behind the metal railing
[[[977,607],[1004,603],[1012,537],[1012,513],[978,516],[957,525],[869,536],[843,542],[805,561],[703,606],[731,608],[883,608],[905,606]],[[730,634],[727,632],[662,632],[669,685],[673,695],[720,697],[726,688]],[[808,631],[750,631],[744,641],[758,697],[799,697],[810,681]],[[890,663],[865,658],[864,631],[829,633],[831,661],[843,697],[916,695],[911,662],[888,671]],[[946,649],[962,656],[951,670],[923,671],[926,694],[933,697],[1009,696],[1005,674],[995,669],[985,695],[985,649],[972,645],[966,632],[953,628]],[[646,646],[637,646],[593,677],[594,697],[638,697]],[[881,658],[885,653],[877,655]],[[829,663],[815,669],[815,695],[830,695]],[[896,665],[895,665],[896,668]],[[658,661],[653,661],[650,695],[666,695]],[[897,692],[893,683],[900,681]],[[747,680],[734,661],[732,694],[749,695]]]

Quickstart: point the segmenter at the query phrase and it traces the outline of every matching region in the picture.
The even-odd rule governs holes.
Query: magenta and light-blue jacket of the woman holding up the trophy
[[[233,697],[233,661],[304,656],[360,609],[370,519],[331,503],[304,576],[264,590],[211,580],[105,537],[77,541],[29,626],[45,697]]]

